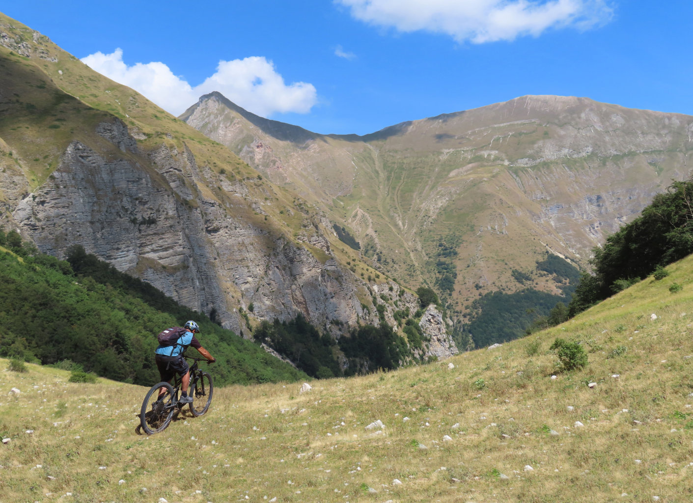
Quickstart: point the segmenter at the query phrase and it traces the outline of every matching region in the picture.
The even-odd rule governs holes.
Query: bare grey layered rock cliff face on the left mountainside
[[[137,152],[123,123],[102,123],[97,132],[119,150]],[[245,335],[234,296],[253,302],[263,319],[302,312],[318,326],[356,323],[362,309],[355,281],[333,258],[321,263],[269,236],[245,211],[234,215],[234,207],[247,207],[243,186],[225,180],[229,201],[222,203],[200,188],[218,175],[200,169],[188,150],[161,145],[141,159],[147,161],[153,173],[73,141],[51,177],[17,204],[15,222],[42,251],[64,257],[71,245],[82,245],[188,307],[207,314],[214,308],[222,325]],[[324,238],[306,239],[331,253]]]

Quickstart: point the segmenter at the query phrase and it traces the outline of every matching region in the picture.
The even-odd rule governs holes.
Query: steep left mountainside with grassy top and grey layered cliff
[[[338,336],[399,292],[295,193],[3,15],[0,69],[0,224],[40,250],[82,245],[246,337],[299,312]]]

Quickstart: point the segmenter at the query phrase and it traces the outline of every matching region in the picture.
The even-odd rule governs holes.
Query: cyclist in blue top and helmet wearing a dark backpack
[[[179,403],[193,403],[193,397],[188,396],[188,385],[190,384],[190,366],[183,358],[183,352],[188,348],[188,346],[193,346],[197,349],[204,358],[207,358],[209,363],[216,362],[214,358],[207,349],[202,347],[200,341],[195,337],[196,333],[200,333],[200,327],[195,321],[186,321],[184,326],[186,332],[178,339],[178,342],[173,346],[161,346],[155,350],[155,360],[157,362],[157,368],[159,369],[159,376],[161,376],[162,381],[171,382],[173,377],[177,373],[181,376],[182,383],[182,393],[181,398],[178,400]],[[162,387],[159,391],[159,398],[166,393],[166,388]]]

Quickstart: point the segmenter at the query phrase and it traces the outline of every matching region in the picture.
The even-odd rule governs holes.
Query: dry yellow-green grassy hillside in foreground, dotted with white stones
[[[146,387],[2,370],[3,501],[690,501],[693,257],[667,270],[500,348],[304,394],[216,389],[150,438]],[[584,369],[557,369],[556,337]]]

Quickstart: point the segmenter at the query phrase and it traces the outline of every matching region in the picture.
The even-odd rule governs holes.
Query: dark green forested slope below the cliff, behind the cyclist
[[[16,233],[2,234],[0,241],[6,245],[0,247],[3,357],[63,367],[77,364],[99,376],[150,385],[159,380],[156,334],[194,319],[200,324],[200,342],[217,359],[213,373],[218,384],[307,378],[258,344],[179,306],[83,250],[81,256],[79,249],[71,256],[76,269],[89,271],[96,279],[79,276],[69,262],[23,245]]]

